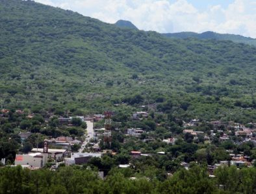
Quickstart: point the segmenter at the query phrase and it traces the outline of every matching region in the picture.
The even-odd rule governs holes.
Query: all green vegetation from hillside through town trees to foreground
[[[227,125],[255,127],[255,47],[210,39],[211,33],[170,39],[33,1],[2,0],[0,28],[0,105],[9,109],[0,114],[0,158],[13,164],[16,153],[43,147],[45,138],[82,141],[86,124],[58,117],[106,110],[114,112],[112,144],[101,141],[99,147],[115,152],[56,171],[47,169],[50,164],[35,171],[1,167],[0,193],[256,192],[255,167],[227,167],[230,150],[248,156],[250,164],[256,158],[253,142],[243,142],[245,136]],[[149,115],[133,120],[136,111]],[[183,121],[192,119],[198,124],[189,129],[208,139],[183,134]],[[214,127],[211,120],[222,125]],[[103,125],[101,120],[94,127]],[[144,133],[126,136],[131,127]],[[31,134],[24,140],[19,132]],[[230,139],[221,142],[224,133]],[[175,143],[163,142],[171,137]],[[86,151],[93,151],[90,145]],[[136,158],[130,151],[150,155]],[[207,165],[223,160],[227,166],[209,177]]]

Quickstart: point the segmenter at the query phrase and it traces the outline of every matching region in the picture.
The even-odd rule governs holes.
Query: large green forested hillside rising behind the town
[[[256,48],[169,39],[33,1],[0,1],[0,99],[32,111],[255,119]],[[115,107],[116,103],[126,103]]]

